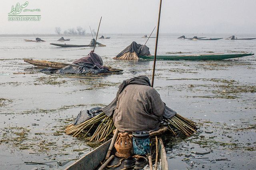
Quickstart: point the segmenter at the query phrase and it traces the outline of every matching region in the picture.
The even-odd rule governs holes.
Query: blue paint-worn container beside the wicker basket
[[[132,145],[134,154],[148,154],[150,152],[149,133],[146,131],[132,133]]]

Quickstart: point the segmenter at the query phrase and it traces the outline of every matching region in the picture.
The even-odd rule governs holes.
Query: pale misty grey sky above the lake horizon
[[[41,21],[8,21],[17,2],[41,10]],[[100,33],[150,33],[159,0],[2,0],[0,34],[54,33],[77,26]],[[256,33],[256,0],[163,0],[160,33]],[[24,13],[23,13],[24,14]],[[29,13],[26,13],[29,14]]]

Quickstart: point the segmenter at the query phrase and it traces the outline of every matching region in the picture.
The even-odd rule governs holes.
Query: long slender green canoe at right
[[[254,55],[252,53],[241,54],[202,54],[202,55],[158,55],[158,60],[223,60]],[[141,59],[154,59],[154,56],[139,56]]]

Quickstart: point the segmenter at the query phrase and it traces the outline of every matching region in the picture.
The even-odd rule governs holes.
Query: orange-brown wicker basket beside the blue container
[[[116,156],[126,158],[131,155],[132,139],[128,133],[119,133],[116,143]]]

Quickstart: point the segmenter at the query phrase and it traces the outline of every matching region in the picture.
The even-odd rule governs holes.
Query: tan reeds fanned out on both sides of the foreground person
[[[190,136],[196,132],[196,123],[179,114],[176,114],[170,119],[164,118],[162,125],[167,126],[168,130],[173,135],[177,135],[174,132],[174,129],[184,133],[186,136]],[[73,123],[68,125],[65,132],[73,137],[78,137],[78,135],[80,135],[80,137],[82,136],[90,142],[105,142],[114,129],[113,117],[108,117],[102,112],[78,125],[74,125]]]

